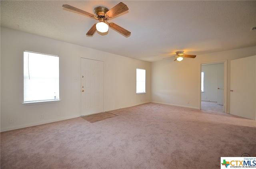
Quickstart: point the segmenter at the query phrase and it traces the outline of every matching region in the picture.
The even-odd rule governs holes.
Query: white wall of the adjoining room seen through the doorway
[[[204,92],[201,94],[201,100],[217,102],[218,73],[224,74],[224,64],[202,65],[201,71],[204,72]],[[222,70],[219,72],[218,70]]]

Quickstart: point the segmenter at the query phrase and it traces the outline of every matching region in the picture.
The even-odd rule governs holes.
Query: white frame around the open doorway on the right
[[[202,72],[202,65],[211,65],[211,64],[218,64],[223,63],[224,64],[224,103],[223,103],[223,111],[224,113],[227,112],[227,96],[228,96],[228,90],[227,90],[227,84],[228,84],[228,60],[221,60],[221,61],[208,61],[208,62],[202,62],[199,65],[199,100],[198,105],[199,109],[201,110],[201,100],[202,100],[202,94],[201,94],[201,72]]]

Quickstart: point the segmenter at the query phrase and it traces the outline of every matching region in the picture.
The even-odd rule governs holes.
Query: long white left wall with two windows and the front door
[[[22,104],[25,50],[60,57],[60,102]],[[1,131],[79,117],[81,57],[104,61],[105,111],[151,101],[150,62],[1,28]],[[136,68],[146,69],[146,94],[136,94]],[[74,81],[74,77],[79,81]],[[13,123],[9,123],[10,118]]]

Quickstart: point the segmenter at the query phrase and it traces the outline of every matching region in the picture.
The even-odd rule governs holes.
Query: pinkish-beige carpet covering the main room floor
[[[254,120],[154,103],[110,113],[2,132],[1,169],[219,169],[256,156]]]

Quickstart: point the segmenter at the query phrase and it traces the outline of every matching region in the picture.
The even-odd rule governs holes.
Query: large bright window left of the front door
[[[24,103],[59,100],[59,57],[24,51]]]

